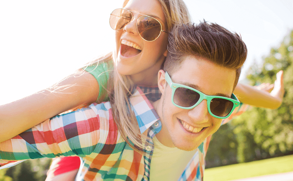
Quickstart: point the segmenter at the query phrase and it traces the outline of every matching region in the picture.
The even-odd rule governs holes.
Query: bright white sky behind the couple
[[[247,69],[293,29],[292,0],[184,0],[195,23],[205,19],[240,33]],[[112,10],[121,0],[0,1],[0,105],[49,87],[112,51]]]

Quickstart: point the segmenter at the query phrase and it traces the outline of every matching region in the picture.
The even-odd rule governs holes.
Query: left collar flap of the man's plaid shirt
[[[129,100],[131,103],[131,109],[135,113],[140,133],[143,133],[156,121],[160,120],[154,107],[139,87],[136,88]]]

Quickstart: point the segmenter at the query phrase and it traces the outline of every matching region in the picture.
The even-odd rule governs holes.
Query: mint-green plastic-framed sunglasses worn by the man
[[[206,99],[209,114],[215,118],[224,119],[229,117],[233,110],[240,104],[239,100],[233,93],[231,98],[205,95],[194,88],[173,83],[167,72],[165,73],[165,80],[172,89],[172,103],[178,108],[193,109],[201,103],[203,99]]]

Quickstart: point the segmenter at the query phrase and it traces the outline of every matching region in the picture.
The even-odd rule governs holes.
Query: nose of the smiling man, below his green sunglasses
[[[196,124],[206,123],[209,121],[209,110],[206,99],[188,111],[188,116],[193,119]]]

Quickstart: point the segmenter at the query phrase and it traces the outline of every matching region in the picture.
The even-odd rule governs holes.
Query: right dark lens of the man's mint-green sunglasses
[[[231,112],[233,105],[234,103],[227,99],[213,98],[210,103],[210,109],[214,115],[225,117]]]

